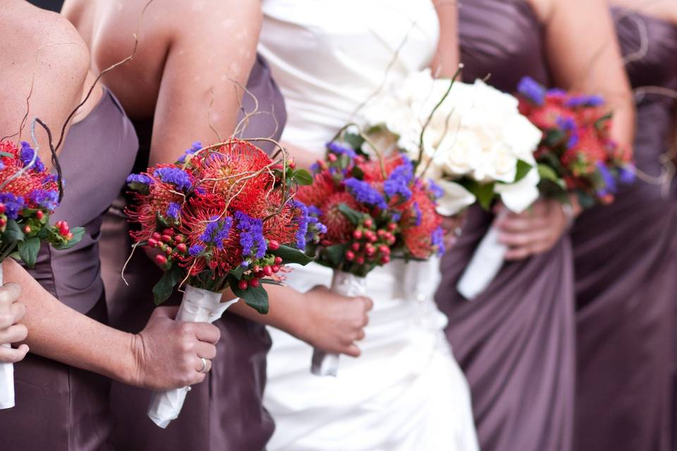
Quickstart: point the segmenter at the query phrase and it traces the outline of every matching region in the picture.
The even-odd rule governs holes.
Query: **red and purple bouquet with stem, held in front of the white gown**
[[[326,226],[309,249],[319,264],[334,269],[331,290],[365,293],[365,277],[394,257],[425,260],[444,253],[442,218],[435,211],[441,189],[417,177],[413,162],[396,150],[362,151],[365,137],[343,130],[313,166],[315,180],[296,198]],[[368,144],[368,143],[367,143]],[[338,356],[315,350],[312,372],[336,375]]]

